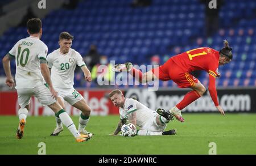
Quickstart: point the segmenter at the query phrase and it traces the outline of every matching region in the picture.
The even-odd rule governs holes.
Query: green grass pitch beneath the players
[[[0,117],[0,154],[38,154],[38,144],[46,143],[46,154],[208,154],[209,142],[217,144],[217,154],[256,154],[256,114],[189,114],[184,123],[170,122],[167,129],[176,135],[110,136],[119,116],[92,116],[86,129],[94,136],[77,143],[64,127],[57,137],[54,117],[28,117],[24,137],[16,139],[18,117]],[[72,117],[76,126],[79,117]]]

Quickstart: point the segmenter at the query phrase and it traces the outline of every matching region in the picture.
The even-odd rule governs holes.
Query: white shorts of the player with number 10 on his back
[[[56,102],[56,100],[53,99],[49,88],[43,82],[36,83],[34,88],[18,88],[17,93],[18,103],[21,108],[25,108],[26,105],[30,104],[31,96],[38,98],[43,105],[51,105]]]

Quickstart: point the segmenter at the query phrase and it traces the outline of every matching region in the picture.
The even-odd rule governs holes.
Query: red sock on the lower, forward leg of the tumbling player
[[[201,97],[199,93],[197,93],[196,91],[190,91],[184,96],[184,98],[180,101],[180,103],[176,105],[176,107],[181,110],[187,107],[189,104],[191,104],[193,101],[195,101],[199,97]]]

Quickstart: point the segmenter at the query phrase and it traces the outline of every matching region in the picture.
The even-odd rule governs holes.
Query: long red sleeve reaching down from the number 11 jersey
[[[218,67],[218,66],[217,66]],[[218,68],[216,66],[209,67],[209,93],[212,97],[213,103],[215,106],[218,106],[218,97],[216,91],[216,76],[218,75]]]

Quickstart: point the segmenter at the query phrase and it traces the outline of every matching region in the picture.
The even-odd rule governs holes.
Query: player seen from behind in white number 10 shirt
[[[31,96],[35,96],[39,99],[40,103],[48,105],[60,117],[63,124],[71,131],[77,142],[87,141],[90,135],[79,134],[67,112],[56,101],[57,92],[52,86],[46,61],[48,48],[40,40],[42,36],[41,20],[28,20],[27,32],[30,37],[16,42],[10,52],[3,58],[6,84],[11,88],[14,87],[15,83],[11,76],[10,60],[16,60],[15,88],[18,93],[18,103],[20,106],[18,111],[19,126],[16,131],[16,137],[18,139],[23,137],[30,98]]]

